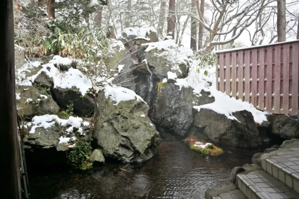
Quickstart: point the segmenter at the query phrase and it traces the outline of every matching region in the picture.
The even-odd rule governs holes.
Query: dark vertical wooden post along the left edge
[[[14,30],[12,0],[1,0],[0,20],[0,151],[1,195],[7,199],[21,199],[18,148],[16,134]]]

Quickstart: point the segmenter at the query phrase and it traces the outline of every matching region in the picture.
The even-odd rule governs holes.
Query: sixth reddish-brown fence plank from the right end
[[[252,88],[251,88],[251,99],[252,104],[257,106],[257,76],[258,76],[258,55],[257,49],[252,49]]]

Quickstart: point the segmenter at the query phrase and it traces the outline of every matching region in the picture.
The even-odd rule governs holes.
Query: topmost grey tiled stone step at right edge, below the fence
[[[262,160],[263,170],[299,193],[299,148],[272,152]]]

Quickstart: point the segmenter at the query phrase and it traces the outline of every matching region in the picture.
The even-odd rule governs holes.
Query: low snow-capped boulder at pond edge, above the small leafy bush
[[[48,114],[34,116],[24,127],[28,131],[24,136],[24,147],[30,152],[49,148],[68,150],[77,137],[86,139],[91,130],[89,122],[80,117],[61,119],[57,115]]]

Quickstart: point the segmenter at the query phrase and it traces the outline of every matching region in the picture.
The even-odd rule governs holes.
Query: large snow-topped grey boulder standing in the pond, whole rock
[[[148,111],[147,103],[129,89],[106,86],[99,92],[93,138],[105,158],[144,162],[156,153],[159,133]]]

